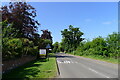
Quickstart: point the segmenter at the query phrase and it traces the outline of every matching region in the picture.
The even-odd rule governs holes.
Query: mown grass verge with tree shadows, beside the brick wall
[[[5,78],[21,78],[21,79],[38,79],[38,78],[54,78],[57,75],[57,67],[55,57],[48,60],[34,60],[23,66],[11,70],[9,73],[3,74]]]

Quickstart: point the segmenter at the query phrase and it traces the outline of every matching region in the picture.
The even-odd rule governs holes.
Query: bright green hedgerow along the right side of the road
[[[120,54],[120,44],[118,43],[120,34],[113,32],[107,38],[97,37],[92,41],[82,41],[74,54],[80,56],[100,56],[104,58],[117,59]],[[73,52],[72,52],[73,53]]]

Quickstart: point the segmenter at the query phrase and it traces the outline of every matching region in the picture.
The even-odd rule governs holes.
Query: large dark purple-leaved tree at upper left
[[[2,20],[8,21],[8,24],[13,24],[12,28],[18,31],[18,38],[32,38],[37,31],[38,21],[36,10],[26,2],[9,3],[9,6],[1,8]],[[4,28],[4,26],[3,26]]]

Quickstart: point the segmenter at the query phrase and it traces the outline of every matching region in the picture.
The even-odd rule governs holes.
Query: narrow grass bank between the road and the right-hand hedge
[[[68,53],[68,54],[74,55],[74,53]],[[79,54],[75,54],[75,55],[80,56]],[[103,56],[98,56],[98,55],[82,55],[82,57],[118,64],[118,59],[114,59],[114,58],[108,58],[108,57],[103,57]]]

